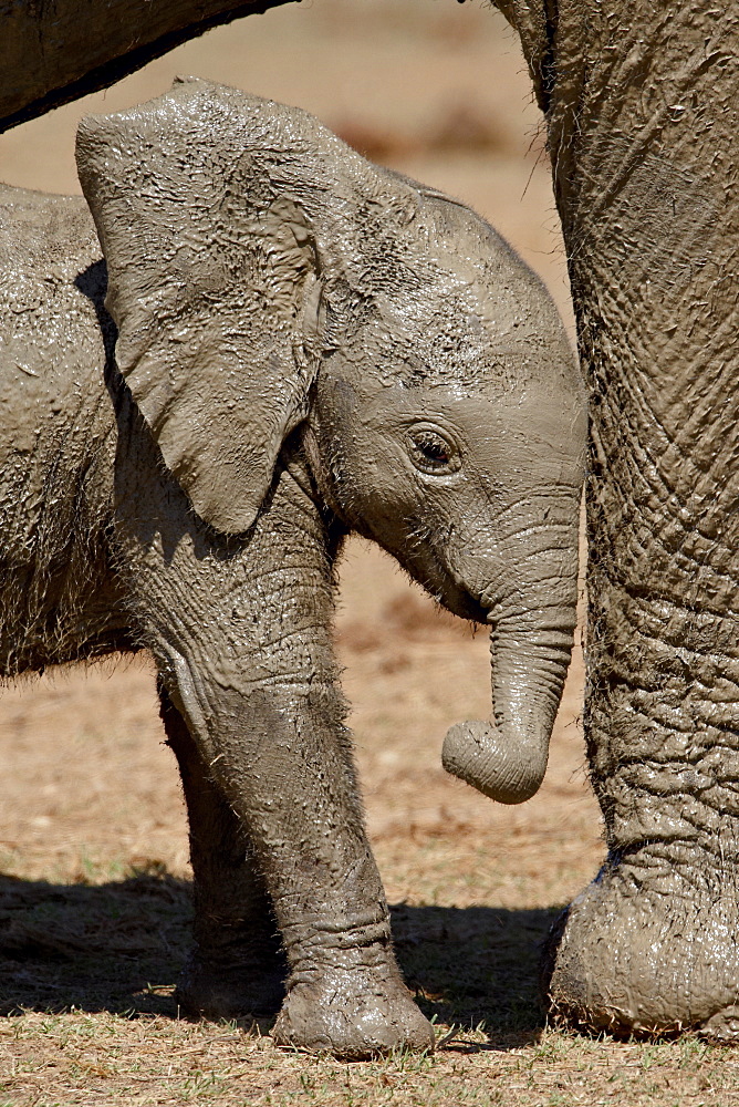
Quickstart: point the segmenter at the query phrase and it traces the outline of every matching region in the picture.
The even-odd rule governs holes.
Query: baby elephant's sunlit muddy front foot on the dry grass
[[[352,1061],[434,1048],[434,1031],[395,965],[294,973],[272,1038]]]

